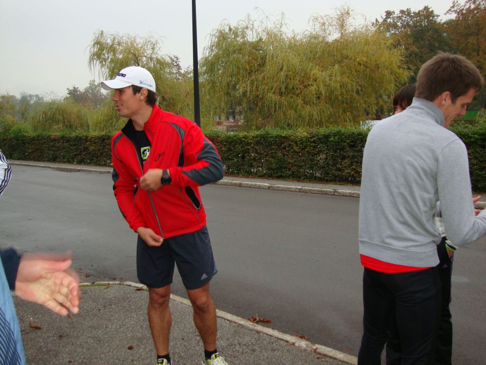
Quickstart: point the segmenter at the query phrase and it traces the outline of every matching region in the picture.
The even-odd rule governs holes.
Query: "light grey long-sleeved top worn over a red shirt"
[[[404,112],[370,131],[362,164],[359,253],[392,264],[437,265],[439,200],[454,244],[486,234],[486,211],[474,215],[466,147],[443,125],[435,104],[414,98]]]

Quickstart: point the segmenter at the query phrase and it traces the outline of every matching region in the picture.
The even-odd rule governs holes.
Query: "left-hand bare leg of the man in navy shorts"
[[[172,316],[169,309],[171,285],[161,288],[148,288],[148,323],[152,332],[153,343],[158,355],[169,353],[169,335]]]

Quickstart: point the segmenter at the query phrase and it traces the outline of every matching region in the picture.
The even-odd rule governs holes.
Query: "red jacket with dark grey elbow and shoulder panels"
[[[143,130],[151,144],[143,166],[131,120],[111,138],[113,191],[130,228],[147,227],[163,238],[203,228],[206,212],[198,187],[223,177],[223,163],[213,143],[195,123],[157,105]],[[140,178],[151,168],[169,169],[172,184],[153,192],[140,189]]]

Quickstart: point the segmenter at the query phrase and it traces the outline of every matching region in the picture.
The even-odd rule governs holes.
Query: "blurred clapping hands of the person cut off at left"
[[[54,313],[67,315],[79,311],[79,278],[70,270],[71,253],[25,254],[20,259],[15,294],[42,304]]]

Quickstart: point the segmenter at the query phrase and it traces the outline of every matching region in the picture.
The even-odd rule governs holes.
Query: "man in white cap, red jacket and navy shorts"
[[[203,340],[203,364],[227,364],[216,349],[209,281],[217,270],[198,189],[223,177],[223,163],[196,124],[155,104],[155,82],[145,68],[126,67],[101,86],[114,91],[118,114],[129,118],[111,139],[113,191],[138,233],[137,276],[149,291],[156,363],[171,364],[169,300],[176,263]]]

